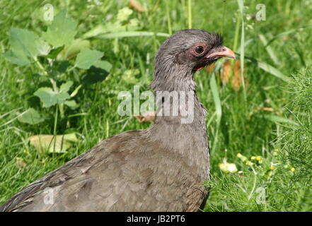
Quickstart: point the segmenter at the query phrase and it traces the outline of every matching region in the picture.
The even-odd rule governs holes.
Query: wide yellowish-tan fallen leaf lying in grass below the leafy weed
[[[56,140],[55,140],[56,137]],[[64,153],[73,143],[78,140],[75,133],[69,133],[65,135],[35,135],[28,138],[31,145],[40,153]],[[55,141],[55,142],[54,142]],[[54,146],[55,143],[55,146]]]

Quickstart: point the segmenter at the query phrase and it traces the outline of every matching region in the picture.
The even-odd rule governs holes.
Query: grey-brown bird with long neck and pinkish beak
[[[210,177],[210,157],[207,109],[197,98],[194,75],[222,57],[235,54],[221,35],[198,29],[175,32],[156,53],[150,88],[154,94],[194,93],[192,121],[182,123],[180,112],[160,114],[158,109],[149,128],[106,138],[26,186],[0,211],[201,210],[209,195],[204,182]]]

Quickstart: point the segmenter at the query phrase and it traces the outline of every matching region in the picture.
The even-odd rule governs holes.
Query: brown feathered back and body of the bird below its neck
[[[127,131],[33,182],[0,210],[196,211],[207,190],[195,167],[146,130]]]

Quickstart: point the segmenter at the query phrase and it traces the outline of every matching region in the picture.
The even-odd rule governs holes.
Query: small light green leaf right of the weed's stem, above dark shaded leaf
[[[97,50],[82,49],[77,55],[75,66],[79,69],[90,69],[103,55],[103,52]]]

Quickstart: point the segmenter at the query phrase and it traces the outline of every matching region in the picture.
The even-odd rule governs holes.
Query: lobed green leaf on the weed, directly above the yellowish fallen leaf
[[[34,95],[40,98],[43,107],[51,107],[56,104],[62,104],[65,100],[70,98],[70,95],[66,92],[54,92],[52,88],[43,87],[39,88]]]

